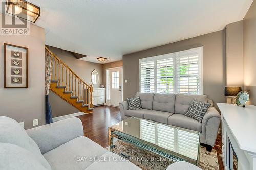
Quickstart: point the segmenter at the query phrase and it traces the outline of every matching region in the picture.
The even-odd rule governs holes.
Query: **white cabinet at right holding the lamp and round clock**
[[[217,103],[225,170],[256,170],[256,106]]]

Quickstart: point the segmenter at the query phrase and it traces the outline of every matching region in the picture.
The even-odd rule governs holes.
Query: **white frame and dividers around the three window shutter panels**
[[[197,47],[197,48],[191,48],[189,50],[183,50],[183,51],[179,51],[179,52],[175,52],[175,53],[168,53],[168,54],[164,54],[164,55],[159,55],[159,56],[153,56],[153,57],[147,57],[147,58],[142,58],[139,60],[139,88],[140,88],[140,92],[141,92],[141,74],[140,74],[140,66],[141,66],[141,62],[146,62],[146,61],[153,61],[154,60],[154,75],[157,74],[157,69],[156,69],[156,61],[158,59],[166,59],[169,58],[170,55],[174,55],[174,93],[177,94],[177,54],[179,53],[187,53],[187,52],[191,52],[191,51],[197,51],[199,54],[199,61],[198,61],[198,65],[199,65],[199,94],[204,94],[204,76],[203,76],[203,52],[204,48],[203,46],[201,47]],[[155,83],[155,92],[157,92],[157,81],[154,82]]]

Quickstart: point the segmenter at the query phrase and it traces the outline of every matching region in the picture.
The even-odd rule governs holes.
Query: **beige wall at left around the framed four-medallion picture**
[[[4,89],[4,43],[29,48],[29,88]],[[31,24],[28,36],[0,35],[0,51],[0,115],[24,122],[25,129],[32,128],[33,119],[44,125],[45,29]]]

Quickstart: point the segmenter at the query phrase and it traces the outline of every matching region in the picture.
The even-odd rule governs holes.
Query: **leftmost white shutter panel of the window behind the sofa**
[[[145,61],[140,63],[140,92],[155,92],[155,63]]]

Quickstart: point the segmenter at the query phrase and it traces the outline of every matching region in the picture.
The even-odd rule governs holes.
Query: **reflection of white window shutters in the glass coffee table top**
[[[147,120],[140,121],[140,139],[197,160],[199,133]]]

